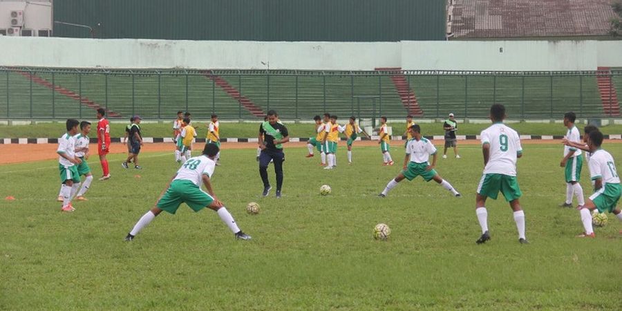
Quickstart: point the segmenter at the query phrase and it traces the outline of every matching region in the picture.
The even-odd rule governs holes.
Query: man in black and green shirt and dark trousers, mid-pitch
[[[267,179],[267,167],[270,161],[274,162],[274,173],[276,173],[276,198],[281,198],[281,187],[283,187],[283,145],[290,141],[288,129],[279,120],[276,111],[271,110],[267,113],[267,121],[259,126],[259,176],[263,181],[263,196],[270,194],[270,181]]]

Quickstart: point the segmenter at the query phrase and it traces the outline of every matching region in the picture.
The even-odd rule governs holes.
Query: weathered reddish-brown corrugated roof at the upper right
[[[615,17],[610,0],[456,0],[457,38],[602,36]]]

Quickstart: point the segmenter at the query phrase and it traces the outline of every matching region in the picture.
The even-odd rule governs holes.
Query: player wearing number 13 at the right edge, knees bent
[[[616,170],[616,163],[610,153],[601,149],[603,144],[603,133],[600,131],[590,132],[587,140],[587,146],[592,152],[590,161],[587,163],[590,167],[590,176],[594,180],[594,194],[587,199],[585,205],[578,207],[581,214],[581,223],[585,232],[578,235],[578,238],[594,238],[594,229],[592,227],[592,213],[594,209],[604,213],[608,211],[613,213],[619,220],[622,220],[622,212],[620,208],[616,208],[616,204],[620,200],[622,187],[620,186],[620,177]]]

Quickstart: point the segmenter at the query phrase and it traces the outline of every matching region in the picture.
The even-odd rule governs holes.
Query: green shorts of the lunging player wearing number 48
[[[201,209],[214,202],[214,198],[194,185],[190,180],[173,180],[164,196],[158,200],[159,209],[175,214],[182,203],[186,203],[192,210]]]

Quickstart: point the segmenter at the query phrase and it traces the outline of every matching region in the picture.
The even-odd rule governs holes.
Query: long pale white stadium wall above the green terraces
[[[0,37],[0,66],[265,69],[269,64],[272,70],[596,70],[598,66],[622,66],[620,51],[622,41],[357,43]]]

